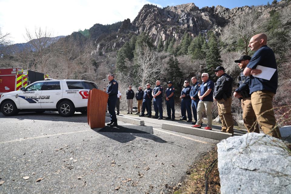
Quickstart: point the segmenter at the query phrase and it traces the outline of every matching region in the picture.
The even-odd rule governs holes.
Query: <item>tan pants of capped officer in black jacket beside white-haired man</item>
[[[233,134],[233,118],[231,114],[231,101],[229,97],[226,100],[217,100],[218,115],[222,122],[221,131]]]

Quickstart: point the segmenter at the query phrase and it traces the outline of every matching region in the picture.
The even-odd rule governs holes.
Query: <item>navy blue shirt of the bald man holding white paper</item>
[[[270,49],[267,45],[262,46],[255,52],[255,54],[253,55],[252,59],[249,61],[249,64],[246,67],[256,69],[257,65],[273,68],[276,69],[276,71],[270,80],[257,78],[250,75],[249,76],[250,94],[259,90],[268,90],[276,94],[276,90],[278,87],[277,63],[273,50]]]

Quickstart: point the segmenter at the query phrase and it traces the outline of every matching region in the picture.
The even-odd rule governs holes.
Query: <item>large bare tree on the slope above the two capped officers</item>
[[[239,49],[244,50],[242,54],[248,55],[250,38],[256,33],[261,32],[261,30],[262,26],[258,8],[249,8],[248,11],[237,12],[236,18],[222,29],[221,39],[228,44],[225,48],[226,50],[237,48],[237,43],[242,40],[243,47]]]

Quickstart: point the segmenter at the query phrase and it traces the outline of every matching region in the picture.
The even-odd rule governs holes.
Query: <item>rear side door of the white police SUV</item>
[[[55,109],[57,102],[62,99],[62,83],[49,81],[43,86],[41,95],[42,109]]]

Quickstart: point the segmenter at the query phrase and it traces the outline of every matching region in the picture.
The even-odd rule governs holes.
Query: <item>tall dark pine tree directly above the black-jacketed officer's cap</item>
[[[220,59],[219,47],[216,36],[212,33],[208,41],[209,50],[206,54],[206,69],[205,71],[209,73],[209,77],[216,80],[216,76],[213,74],[213,70],[217,66],[221,65],[222,60]]]

